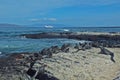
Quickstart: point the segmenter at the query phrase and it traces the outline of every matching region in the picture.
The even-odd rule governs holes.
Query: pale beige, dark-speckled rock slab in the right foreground
[[[110,56],[98,54],[99,48],[58,53],[42,62],[47,65],[46,70],[60,80],[113,80],[120,70],[120,48],[107,49],[115,53],[116,63],[110,60]]]

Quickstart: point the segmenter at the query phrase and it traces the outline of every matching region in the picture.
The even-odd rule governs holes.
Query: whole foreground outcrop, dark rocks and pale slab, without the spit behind
[[[106,66],[110,67],[110,66],[116,65],[116,62],[120,62],[120,61],[117,61],[119,58],[117,59],[114,58],[113,52],[109,51],[103,46],[101,47],[101,45],[102,45],[102,42],[101,44],[99,44],[99,42],[94,43],[92,41],[84,42],[84,43],[76,43],[76,44],[66,43],[66,44],[63,44],[61,47],[51,46],[49,48],[45,48],[38,53],[23,52],[23,53],[11,54],[6,58],[0,59],[0,79],[1,80],[7,80],[7,79],[10,79],[10,80],[25,80],[25,79],[27,80],[30,80],[30,79],[68,80],[70,77],[69,74],[74,72],[74,74],[72,75],[72,79],[74,78],[73,80],[76,80],[76,79],[85,80],[88,77],[90,77],[88,80],[92,80],[94,77],[95,77],[95,80],[97,80],[96,75],[98,73],[101,73],[102,75],[103,74],[102,71],[104,72],[104,70],[107,69]],[[97,48],[94,48],[95,46]],[[97,52],[99,51],[98,47],[101,50],[100,54],[111,56],[111,61],[113,61],[114,64],[111,63],[111,61],[109,60],[109,56],[97,54]],[[99,56],[101,56],[102,59]],[[91,68],[91,66],[93,67]],[[59,71],[58,68],[60,70],[61,69],[63,70]],[[74,70],[72,70],[73,68]],[[94,77],[91,77],[89,73],[87,73],[88,71],[90,71],[89,68],[91,68],[91,71],[92,71],[90,72],[90,75],[93,74],[92,76]],[[116,69],[116,67],[111,67],[107,69],[107,71],[111,70],[112,68]],[[84,75],[84,77],[81,77],[84,74],[84,73],[81,73],[84,69],[86,70],[84,71],[84,73],[86,73],[87,75]],[[94,69],[95,69],[95,72],[93,71]],[[60,73],[60,75],[62,75],[63,73],[63,75],[57,76],[58,73]],[[116,77],[114,80],[119,80],[119,76]]]

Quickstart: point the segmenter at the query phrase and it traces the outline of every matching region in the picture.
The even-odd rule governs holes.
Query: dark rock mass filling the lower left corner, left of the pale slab
[[[45,70],[38,53],[12,54],[0,59],[0,80],[58,80]]]

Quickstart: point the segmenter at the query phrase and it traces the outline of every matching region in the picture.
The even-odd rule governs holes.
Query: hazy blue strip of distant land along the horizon
[[[120,28],[120,26],[71,26],[65,24],[28,24],[28,25],[19,25],[19,24],[10,24],[10,23],[0,23],[0,27],[81,27],[81,28]]]

